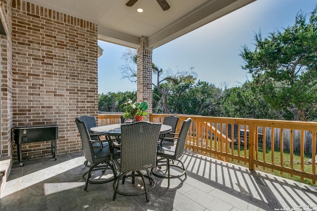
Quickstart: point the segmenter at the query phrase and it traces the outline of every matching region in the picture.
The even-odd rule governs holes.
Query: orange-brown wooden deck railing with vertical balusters
[[[162,123],[167,115],[170,114],[151,114],[148,120]],[[297,175],[302,181],[306,178],[316,184],[316,164],[308,165],[307,160],[315,160],[317,123],[176,116],[180,117],[177,128],[188,117],[193,120],[186,143],[193,152],[227,162],[236,160],[250,170],[267,168]],[[99,125],[120,123],[120,115],[98,115],[98,119]],[[295,154],[300,155],[300,160],[294,158]]]

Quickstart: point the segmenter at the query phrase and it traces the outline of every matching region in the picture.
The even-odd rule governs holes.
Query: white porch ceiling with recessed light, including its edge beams
[[[27,0],[98,24],[98,39],[136,48],[147,37],[156,48],[255,0],[167,0],[163,11],[157,0]],[[137,8],[143,8],[139,13]]]

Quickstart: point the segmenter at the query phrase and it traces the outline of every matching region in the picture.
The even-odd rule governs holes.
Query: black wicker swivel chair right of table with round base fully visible
[[[185,178],[187,178],[184,164],[179,160],[179,158],[184,153],[186,138],[187,138],[188,130],[189,130],[191,123],[192,123],[192,119],[188,118],[187,120],[185,120],[183,122],[178,137],[172,137],[172,138],[166,137],[165,138],[165,139],[168,139],[170,141],[175,142],[175,144],[173,146],[166,146],[166,145],[160,145],[160,144],[158,145],[157,155],[161,159],[166,159],[166,162],[158,165],[157,169],[152,169],[152,174],[157,176],[157,177],[160,177],[160,178],[167,178],[168,179],[168,187],[169,187],[169,179],[178,178],[178,177],[181,177],[183,175],[185,175]],[[161,162],[161,159],[159,159],[160,162]],[[170,160],[177,161],[181,166],[176,165],[174,163],[170,164]],[[166,169],[162,168],[163,166],[165,166]],[[177,175],[171,175],[170,174],[170,166],[181,169],[182,172],[177,174]],[[167,171],[167,174],[163,173],[163,171]]]

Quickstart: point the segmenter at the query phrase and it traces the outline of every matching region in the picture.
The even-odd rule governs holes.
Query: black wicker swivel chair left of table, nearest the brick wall
[[[85,191],[87,190],[88,183],[100,184],[100,183],[113,181],[116,178],[117,173],[114,169],[114,164],[111,160],[110,143],[108,143],[107,145],[104,145],[103,147],[94,147],[93,146],[94,143],[100,143],[104,140],[92,140],[89,135],[85,122],[80,120],[80,118],[76,118],[75,122],[78,127],[80,137],[82,140],[84,156],[87,159],[87,161],[90,162],[91,164],[89,170],[83,174],[83,178],[86,181],[84,190]],[[115,153],[116,153],[116,150],[114,151],[114,154]],[[103,164],[103,165],[100,165],[100,164]],[[111,169],[113,176],[103,180],[98,180],[98,181],[91,180],[92,171],[103,170],[103,173],[104,173],[106,169]]]

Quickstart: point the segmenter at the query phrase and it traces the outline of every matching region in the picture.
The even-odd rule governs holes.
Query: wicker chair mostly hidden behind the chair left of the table
[[[90,117],[90,116],[84,115],[84,116],[78,117],[78,119],[85,123],[85,125],[86,125],[86,127],[88,129],[88,132],[89,132],[91,140],[95,140],[95,141],[101,140],[99,135],[92,134],[91,131],[90,131],[90,128],[97,126],[95,117]],[[96,148],[102,148],[104,146],[109,145],[107,140],[105,140],[105,139],[103,139],[103,140],[104,140],[103,142],[95,142],[95,143],[93,143],[93,147],[96,149]],[[87,160],[84,162],[84,165],[86,167],[90,167],[90,165],[88,165],[88,161]]]

